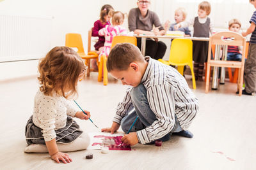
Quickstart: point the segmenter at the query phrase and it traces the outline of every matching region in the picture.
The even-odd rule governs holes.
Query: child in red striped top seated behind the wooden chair
[[[228,22],[229,31],[239,32],[241,28],[241,22],[237,19],[232,19]],[[241,46],[228,45],[227,60],[242,60]]]

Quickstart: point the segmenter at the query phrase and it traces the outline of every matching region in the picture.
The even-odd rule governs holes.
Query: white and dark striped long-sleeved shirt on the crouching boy
[[[148,66],[141,83],[147,90],[148,104],[156,114],[157,120],[152,125],[136,132],[141,144],[162,138],[172,131],[175,125],[175,115],[180,127],[184,130],[188,129],[198,112],[198,99],[176,69],[150,57],[145,57],[145,60]],[[120,124],[129,108],[132,107],[131,89],[127,90],[124,100],[118,104],[113,122]]]

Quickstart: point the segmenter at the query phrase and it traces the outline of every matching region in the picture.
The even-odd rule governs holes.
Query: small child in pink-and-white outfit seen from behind
[[[104,28],[100,29],[99,35],[105,36],[105,43],[102,51],[100,52],[99,60],[101,55],[106,55],[106,57],[108,57],[114,36],[127,36],[126,29],[121,26],[123,23],[124,13],[115,11],[112,17],[113,25],[106,25]]]

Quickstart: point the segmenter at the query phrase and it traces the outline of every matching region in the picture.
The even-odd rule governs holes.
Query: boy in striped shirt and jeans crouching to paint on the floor
[[[174,133],[193,138],[187,129],[198,112],[198,99],[176,69],[148,56],[144,58],[140,49],[130,43],[118,44],[111,50],[107,68],[114,78],[131,88],[118,104],[112,126],[102,132],[113,134],[121,125],[127,133],[138,117],[131,132],[122,138],[127,145],[167,141]]]

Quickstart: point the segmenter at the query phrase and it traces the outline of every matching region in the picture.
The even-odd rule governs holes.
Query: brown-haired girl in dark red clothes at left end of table
[[[99,53],[102,51],[105,42],[104,36],[99,35],[99,30],[104,28],[106,25],[110,25],[109,21],[113,15],[113,12],[113,7],[110,4],[105,4],[100,10],[100,19],[94,22],[94,27],[92,28],[92,36],[99,37],[99,40],[94,45],[95,50],[99,51]],[[92,69],[96,71],[98,69],[96,59],[92,60]]]

